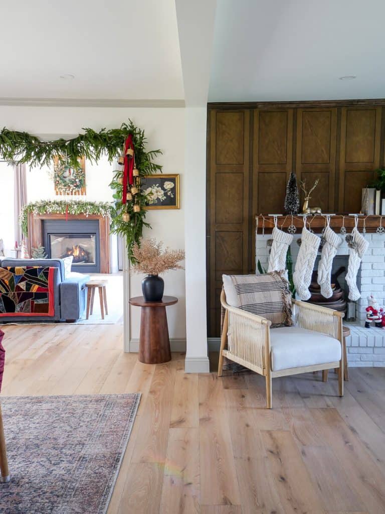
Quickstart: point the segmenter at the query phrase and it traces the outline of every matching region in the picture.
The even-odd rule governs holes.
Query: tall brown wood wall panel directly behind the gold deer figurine
[[[296,174],[309,190],[318,178],[309,205],[322,212],[334,212],[336,173],[337,108],[315,107],[297,109]],[[304,193],[301,190],[301,206]]]

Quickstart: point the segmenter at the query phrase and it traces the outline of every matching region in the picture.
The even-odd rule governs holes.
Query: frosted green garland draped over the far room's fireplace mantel
[[[86,200],[40,200],[33,201],[24,207],[20,213],[19,224],[23,234],[28,235],[28,213],[33,214],[98,214],[112,221],[113,206],[106,201]]]

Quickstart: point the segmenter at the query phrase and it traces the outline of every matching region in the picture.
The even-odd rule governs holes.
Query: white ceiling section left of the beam
[[[1,2],[0,48],[3,98],[184,98],[175,0]]]

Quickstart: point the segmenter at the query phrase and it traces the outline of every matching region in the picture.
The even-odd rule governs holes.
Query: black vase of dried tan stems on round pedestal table
[[[147,275],[142,281],[145,301],[162,301],[164,281],[159,274],[170,269],[183,269],[178,263],[184,259],[184,250],[163,249],[162,242],[157,243],[155,239],[147,239],[140,246],[134,244],[132,254],[135,262],[133,271]]]

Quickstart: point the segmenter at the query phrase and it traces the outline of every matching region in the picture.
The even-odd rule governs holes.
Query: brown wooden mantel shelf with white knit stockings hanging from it
[[[318,214],[315,216],[307,215],[306,216],[306,227],[314,230],[314,232],[320,233],[326,224],[326,216],[329,214]],[[278,228],[287,229],[290,225],[294,225],[297,228],[296,233],[300,233],[303,227],[303,215],[297,214],[293,216],[291,215],[277,215],[277,225]],[[373,215],[365,215],[365,214],[357,214],[358,217],[358,230],[361,232],[363,227],[365,226],[365,230],[367,232],[376,232],[377,227],[380,225],[381,217],[382,217],[382,226],[385,226],[385,215],[383,216],[373,216]],[[261,234],[264,226],[264,233],[271,234],[274,228],[274,216],[271,214],[258,214],[255,217],[256,219],[256,229],[257,233]],[[354,214],[330,214],[330,226],[339,231],[339,229],[344,225],[348,232],[351,232],[355,223],[355,215]]]

